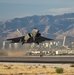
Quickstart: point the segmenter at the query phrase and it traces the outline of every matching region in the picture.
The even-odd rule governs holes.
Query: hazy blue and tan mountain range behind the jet
[[[34,15],[0,22],[0,40],[25,35],[33,28],[38,28],[42,35],[54,39],[63,39],[64,36],[74,37],[74,13],[55,16]]]

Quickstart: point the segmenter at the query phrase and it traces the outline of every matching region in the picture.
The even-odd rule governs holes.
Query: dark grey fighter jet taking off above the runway
[[[31,33],[25,34],[24,36],[7,39],[7,41],[11,41],[11,43],[22,43],[22,45],[24,43],[36,43],[39,45],[39,43],[46,40],[50,41],[53,39],[41,36],[41,33],[36,28],[34,28]]]

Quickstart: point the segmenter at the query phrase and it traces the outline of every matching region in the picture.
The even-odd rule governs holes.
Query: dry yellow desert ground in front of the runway
[[[56,73],[56,68],[64,72]],[[41,64],[41,63],[0,63],[0,75],[74,75],[71,64]]]

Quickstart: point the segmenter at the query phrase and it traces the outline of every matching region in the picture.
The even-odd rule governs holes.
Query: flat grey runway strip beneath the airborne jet
[[[74,63],[74,56],[0,57],[0,62],[17,62],[17,63]]]

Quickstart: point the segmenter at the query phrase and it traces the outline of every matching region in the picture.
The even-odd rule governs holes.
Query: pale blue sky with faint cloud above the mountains
[[[0,22],[33,15],[74,13],[74,0],[0,0]]]

